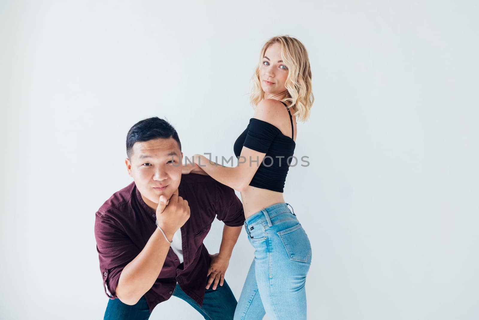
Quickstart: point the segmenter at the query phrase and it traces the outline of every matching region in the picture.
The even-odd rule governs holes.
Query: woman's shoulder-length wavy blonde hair
[[[311,88],[311,67],[309,65],[308,52],[304,45],[291,36],[274,36],[261,49],[260,63],[256,67],[252,77],[252,92],[250,102],[256,107],[264,98],[264,91],[260,82],[260,66],[264,59],[266,49],[272,44],[281,44],[281,59],[288,68],[285,87],[285,97],[281,100],[289,102],[289,108],[293,109],[299,121],[307,121],[314,102]]]

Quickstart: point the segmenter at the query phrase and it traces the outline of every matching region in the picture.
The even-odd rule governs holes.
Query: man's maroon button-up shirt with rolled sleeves
[[[171,297],[177,282],[201,306],[210,264],[203,240],[211,223],[215,217],[228,226],[240,226],[245,221],[243,206],[234,190],[209,176],[182,175],[178,193],[190,206],[190,218],[181,227],[183,264],[170,248],[158,279],[145,293],[150,312]],[[110,299],[116,298],[115,289],[123,268],[140,253],[156,230],[155,222],[155,210],[143,201],[135,182],[115,192],[96,212],[96,249],[103,288]]]

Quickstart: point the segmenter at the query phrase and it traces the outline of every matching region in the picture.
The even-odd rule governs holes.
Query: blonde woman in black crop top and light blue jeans
[[[186,166],[183,172],[201,168],[241,193],[245,229],[255,253],[235,319],[262,319],[265,313],[269,319],[306,319],[311,247],[283,198],[289,166],[296,161],[296,119],[307,120],[314,101],[303,44],[290,36],[269,39],[253,83],[255,112],[234,144],[239,165],[224,167],[195,154],[199,167]]]

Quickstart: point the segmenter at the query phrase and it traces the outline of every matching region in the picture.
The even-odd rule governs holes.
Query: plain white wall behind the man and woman
[[[289,34],[316,97],[285,187],[308,318],[478,319],[478,2],[173,2],[0,1],[0,318],[101,319],[94,214],[131,181],[127,130],[166,117],[185,155],[233,155],[259,50]],[[251,259],[242,233],[237,297]]]

